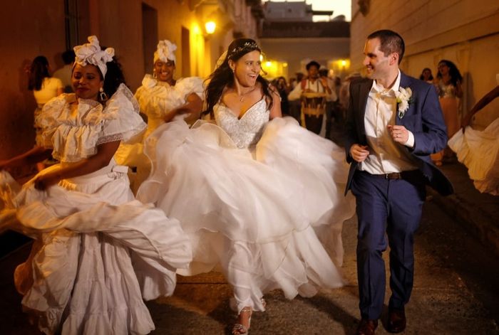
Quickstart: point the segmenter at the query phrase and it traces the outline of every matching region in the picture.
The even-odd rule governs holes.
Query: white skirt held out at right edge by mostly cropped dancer
[[[478,191],[499,195],[499,119],[483,132],[466,127],[449,139],[448,146],[467,168]]]

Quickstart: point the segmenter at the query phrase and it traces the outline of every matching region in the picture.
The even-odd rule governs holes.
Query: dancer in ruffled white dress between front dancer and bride
[[[143,139],[165,122],[185,119],[189,124],[199,119],[202,110],[202,79],[199,77],[174,79],[175,50],[168,40],[159,41],[154,53],[153,75],[145,75],[142,86],[135,92],[140,112],[148,117],[148,129]],[[118,164],[133,166],[130,174],[133,192],[149,176],[150,161],[143,154],[143,144],[121,144],[115,159]]]

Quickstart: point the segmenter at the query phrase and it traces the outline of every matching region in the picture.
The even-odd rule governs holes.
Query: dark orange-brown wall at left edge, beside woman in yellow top
[[[34,144],[36,102],[27,89],[24,67],[45,55],[58,68],[65,47],[64,3],[7,1],[0,20],[0,159],[26,151]]]

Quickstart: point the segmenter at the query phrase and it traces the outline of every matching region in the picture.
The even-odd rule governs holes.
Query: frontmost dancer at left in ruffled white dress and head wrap
[[[172,294],[192,250],[178,220],[134,199],[127,168],[113,159],[145,123],[114,50],[88,41],[75,47],[76,94],[53,98],[36,119],[43,147],[0,170],[50,154],[61,163],[22,188],[0,171],[0,224],[35,239],[14,281],[43,333],[148,334],[143,299]]]

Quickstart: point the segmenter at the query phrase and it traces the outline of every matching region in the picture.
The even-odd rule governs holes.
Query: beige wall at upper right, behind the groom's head
[[[351,69],[361,70],[364,41],[382,28],[397,31],[406,41],[402,70],[418,77],[423,68],[436,74],[438,60],[456,63],[463,75],[463,111],[493,89],[499,73],[499,2],[494,0],[367,1],[364,16],[352,1]],[[483,128],[499,117],[499,101],[480,112],[474,126]]]

